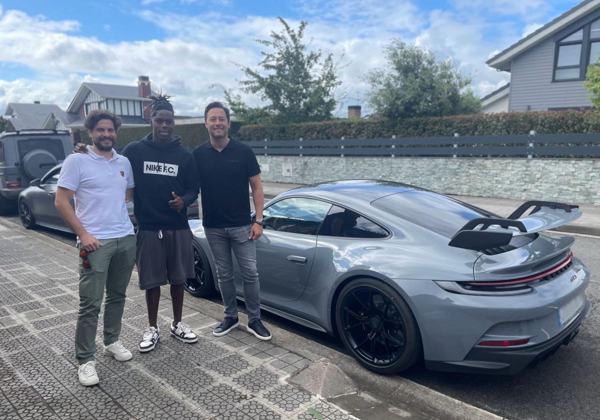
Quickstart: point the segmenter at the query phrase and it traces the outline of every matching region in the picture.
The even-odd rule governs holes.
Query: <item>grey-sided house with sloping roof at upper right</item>
[[[482,112],[592,107],[583,85],[600,55],[600,0],[585,0],[487,61],[511,74],[482,98]]]

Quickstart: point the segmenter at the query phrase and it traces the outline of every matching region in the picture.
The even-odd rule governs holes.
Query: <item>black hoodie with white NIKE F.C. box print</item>
[[[196,161],[173,136],[161,146],[152,141],[152,133],[139,142],[125,146],[121,154],[129,159],[136,183],[133,211],[139,230],[189,229],[187,207],[200,190]],[[184,201],[181,212],[170,209],[175,192]]]

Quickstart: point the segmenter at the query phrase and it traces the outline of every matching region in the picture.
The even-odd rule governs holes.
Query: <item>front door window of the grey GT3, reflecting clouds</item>
[[[331,204],[319,200],[289,198],[268,206],[263,211],[265,230],[316,235]]]

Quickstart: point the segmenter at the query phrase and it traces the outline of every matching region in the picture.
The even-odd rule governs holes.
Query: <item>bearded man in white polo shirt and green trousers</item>
[[[133,200],[131,164],[113,149],[121,118],[107,110],[86,116],[92,146],[88,153],[69,155],[62,164],[55,205],[77,234],[79,247],[79,314],[75,332],[75,354],[79,382],[97,384],[95,338],[98,313],[104,305],[104,351],[118,361],[131,359],[119,341],[125,290],[136,256],[136,236],[126,200]],[[75,198],[75,210],[70,200]]]

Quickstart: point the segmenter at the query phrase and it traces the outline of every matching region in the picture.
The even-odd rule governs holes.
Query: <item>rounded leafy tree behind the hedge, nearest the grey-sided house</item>
[[[387,67],[371,70],[368,103],[389,119],[461,115],[478,112],[481,101],[450,59],[394,39],[385,47]]]

